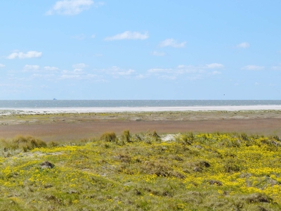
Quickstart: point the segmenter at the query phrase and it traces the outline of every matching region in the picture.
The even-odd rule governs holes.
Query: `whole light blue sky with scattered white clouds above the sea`
[[[280,100],[281,1],[0,2],[0,100]]]

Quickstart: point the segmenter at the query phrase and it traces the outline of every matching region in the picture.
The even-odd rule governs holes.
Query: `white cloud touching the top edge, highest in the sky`
[[[46,12],[46,15],[77,15],[94,4],[92,0],[63,0],[55,2],[55,5]],[[102,4],[96,4],[96,6]]]

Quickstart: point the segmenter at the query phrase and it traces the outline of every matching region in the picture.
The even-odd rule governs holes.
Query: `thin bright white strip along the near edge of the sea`
[[[122,113],[161,111],[281,110],[281,106],[188,106],[188,107],[83,107],[83,108],[0,108],[0,115],[51,113]]]

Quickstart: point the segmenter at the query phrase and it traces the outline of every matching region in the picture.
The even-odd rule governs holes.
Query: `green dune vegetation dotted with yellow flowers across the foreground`
[[[281,210],[281,140],[108,132],[0,143],[0,210]]]

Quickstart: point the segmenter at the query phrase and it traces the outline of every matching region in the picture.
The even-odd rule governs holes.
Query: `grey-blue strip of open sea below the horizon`
[[[0,101],[0,108],[281,106],[281,101]]]

